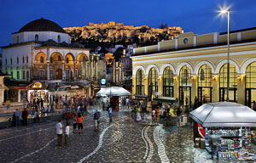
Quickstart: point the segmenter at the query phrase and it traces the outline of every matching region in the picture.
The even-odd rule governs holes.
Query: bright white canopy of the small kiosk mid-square
[[[129,96],[131,93],[123,87],[102,87],[96,96]]]

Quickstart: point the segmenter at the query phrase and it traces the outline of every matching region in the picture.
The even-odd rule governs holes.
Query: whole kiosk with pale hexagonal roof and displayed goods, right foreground
[[[198,139],[195,140],[195,147],[205,145],[209,153],[220,159],[256,160],[250,150],[251,130],[256,126],[256,112],[252,109],[242,104],[219,102],[203,104],[189,116],[206,130],[204,141],[200,145]]]

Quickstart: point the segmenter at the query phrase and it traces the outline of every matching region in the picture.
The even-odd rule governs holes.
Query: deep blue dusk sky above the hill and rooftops
[[[195,34],[223,32],[227,31],[227,18],[217,12],[222,6],[231,6],[231,31],[256,27],[255,0],[1,0],[0,46],[9,45],[11,33],[41,17],[61,27],[116,21],[181,26],[184,32]]]

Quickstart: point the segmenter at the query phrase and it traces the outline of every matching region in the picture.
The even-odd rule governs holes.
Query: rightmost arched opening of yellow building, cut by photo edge
[[[246,105],[253,108],[256,101],[256,62],[247,66],[246,70]]]

